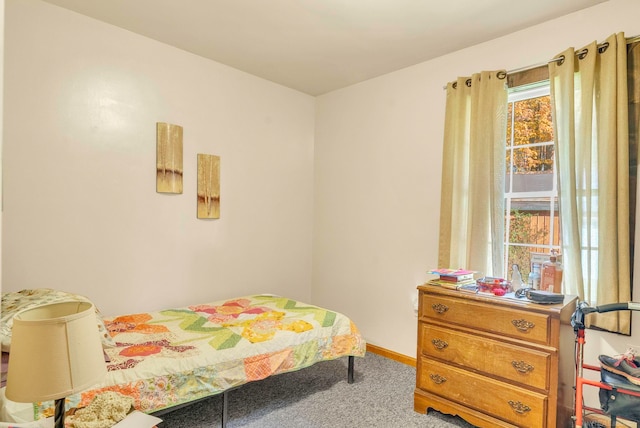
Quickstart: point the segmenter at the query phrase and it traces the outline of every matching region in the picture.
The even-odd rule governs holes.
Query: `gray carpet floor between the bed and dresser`
[[[253,428],[471,428],[460,418],[413,410],[415,368],[376,354],[347,358],[252,382],[229,392],[227,427]],[[160,415],[158,428],[220,426],[221,396]]]

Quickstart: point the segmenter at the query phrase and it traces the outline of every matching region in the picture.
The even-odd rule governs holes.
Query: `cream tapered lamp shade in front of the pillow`
[[[54,400],[106,374],[95,309],[88,302],[38,306],[14,317],[5,394],[9,400]]]

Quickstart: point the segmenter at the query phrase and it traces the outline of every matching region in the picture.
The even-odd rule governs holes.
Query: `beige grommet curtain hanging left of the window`
[[[504,71],[447,85],[438,266],[503,275]]]

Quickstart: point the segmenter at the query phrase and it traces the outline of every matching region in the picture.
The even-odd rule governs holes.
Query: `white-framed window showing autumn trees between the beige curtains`
[[[509,93],[505,150],[505,278],[532,256],[560,252],[560,218],[549,82]]]

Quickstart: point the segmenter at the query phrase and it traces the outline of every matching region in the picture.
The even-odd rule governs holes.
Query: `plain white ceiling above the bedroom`
[[[607,0],[44,0],[320,95]]]

